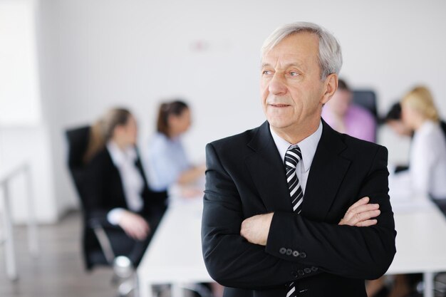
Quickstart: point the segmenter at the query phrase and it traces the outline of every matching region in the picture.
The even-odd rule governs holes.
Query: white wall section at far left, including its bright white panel
[[[53,190],[50,123],[41,108],[36,16],[35,0],[0,0],[0,176],[1,182],[9,177],[11,214],[19,223],[28,218],[28,191],[39,222],[56,222],[60,213]],[[10,177],[11,170],[23,169],[25,163],[31,184],[23,171]],[[0,187],[0,199],[4,190]]]

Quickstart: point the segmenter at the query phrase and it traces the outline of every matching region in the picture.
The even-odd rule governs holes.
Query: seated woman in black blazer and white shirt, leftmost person
[[[135,267],[165,212],[165,195],[147,187],[135,147],[137,132],[135,118],[123,108],[109,110],[93,125],[83,187],[87,219],[119,226],[108,230],[111,246]]]

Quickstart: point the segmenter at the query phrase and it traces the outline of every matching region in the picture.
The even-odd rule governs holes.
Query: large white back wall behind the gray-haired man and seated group
[[[41,0],[41,88],[58,209],[77,204],[63,129],[112,105],[133,110],[145,143],[159,100],[186,98],[194,160],[204,160],[206,142],[259,125],[259,48],[291,21],[332,31],[343,47],[341,76],[353,88],[374,88],[382,112],[426,83],[445,114],[445,11],[441,0]]]

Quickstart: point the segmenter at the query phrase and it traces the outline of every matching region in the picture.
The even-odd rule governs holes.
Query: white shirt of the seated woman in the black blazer
[[[142,179],[141,173],[135,165],[138,159],[135,147],[121,150],[115,142],[110,141],[107,143],[107,150],[110,153],[113,164],[118,168],[128,209],[132,212],[139,212],[143,207],[141,192],[144,188],[144,179]],[[107,214],[108,222],[110,224],[118,224],[124,210],[122,208],[110,210]]]

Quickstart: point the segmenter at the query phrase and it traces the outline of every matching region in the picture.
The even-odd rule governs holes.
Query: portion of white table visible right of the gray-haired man
[[[432,297],[434,273],[446,271],[446,219],[428,199],[395,202],[393,211],[397,252],[387,274],[423,273]]]

